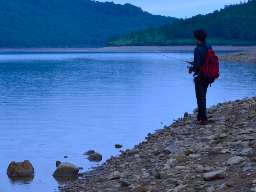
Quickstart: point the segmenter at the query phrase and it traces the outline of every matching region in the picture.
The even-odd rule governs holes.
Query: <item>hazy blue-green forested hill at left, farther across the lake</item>
[[[1,0],[0,18],[0,47],[104,46],[111,35],[178,20],[92,0]]]

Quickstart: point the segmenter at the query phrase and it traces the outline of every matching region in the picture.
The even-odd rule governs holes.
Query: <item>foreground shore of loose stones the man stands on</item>
[[[256,192],[256,96],[185,113],[133,149],[80,174],[60,192]]]

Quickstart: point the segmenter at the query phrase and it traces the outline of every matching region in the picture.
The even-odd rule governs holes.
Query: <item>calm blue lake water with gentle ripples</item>
[[[193,77],[181,60],[193,52],[156,53],[180,60],[142,51],[0,52],[0,192],[58,191],[57,160],[86,172],[120,154],[115,144],[132,149],[192,113]],[[206,107],[254,96],[255,82],[256,64],[220,61]],[[91,149],[101,162],[86,159]],[[34,178],[9,178],[10,162],[24,160]]]

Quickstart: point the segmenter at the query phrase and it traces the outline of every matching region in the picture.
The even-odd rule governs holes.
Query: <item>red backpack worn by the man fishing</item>
[[[207,50],[206,59],[204,64],[199,67],[199,73],[202,74],[203,78],[207,80],[210,84],[214,82],[220,76],[219,70],[219,60],[218,57],[215,55],[212,47],[208,49],[205,45],[201,45]]]

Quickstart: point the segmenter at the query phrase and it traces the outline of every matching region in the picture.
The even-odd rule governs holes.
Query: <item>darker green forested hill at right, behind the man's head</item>
[[[193,33],[199,28],[207,32],[210,44],[256,45],[256,0],[223,7],[220,11],[176,20],[158,28],[110,36],[106,45],[194,45]]]

